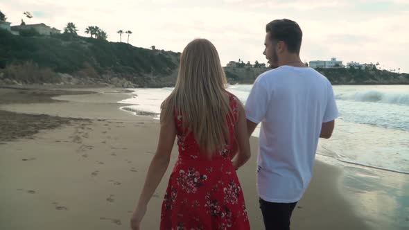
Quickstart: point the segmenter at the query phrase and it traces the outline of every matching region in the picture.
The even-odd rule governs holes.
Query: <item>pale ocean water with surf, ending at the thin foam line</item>
[[[229,91],[243,103],[252,85]],[[409,86],[334,86],[340,118],[333,138],[321,140],[318,154],[345,163],[409,174]],[[173,88],[135,89],[120,103],[128,111],[160,113]],[[156,116],[158,117],[158,116]],[[255,136],[258,132],[255,132]]]

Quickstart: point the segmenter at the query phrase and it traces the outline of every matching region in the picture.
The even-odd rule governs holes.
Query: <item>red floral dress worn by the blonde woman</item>
[[[229,124],[234,140],[238,102],[229,94],[234,122]],[[212,159],[200,154],[193,134],[182,129],[182,116],[175,114],[179,157],[169,179],[162,204],[162,230],[250,229],[243,192],[230,160],[234,146],[227,144]]]

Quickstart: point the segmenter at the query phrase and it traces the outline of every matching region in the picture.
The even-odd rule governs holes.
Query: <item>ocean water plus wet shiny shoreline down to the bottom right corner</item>
[[[229,91],[243,103],[252,85]],[[345,170],[342,188],[373,229],[409,229],[409,85],[334,86],[340,117],[317,158]],[[122,109],[152,112],[173,88],[134,89]],[[258,136],[259,128],[254,132]],[[388,206],[388,208],[385,208]]]

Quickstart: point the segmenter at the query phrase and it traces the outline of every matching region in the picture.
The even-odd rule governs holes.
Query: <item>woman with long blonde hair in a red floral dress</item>
[[[162,103],[157,152],[132,229],[139,229],[166,172],[175,136],[179,157],[164,196],[160,229],[250,229],[236,175],[250,158],[250,143],[243,105],[226,85],[214,45],[207,39],[190,42],[180,58],[175,89]]]

